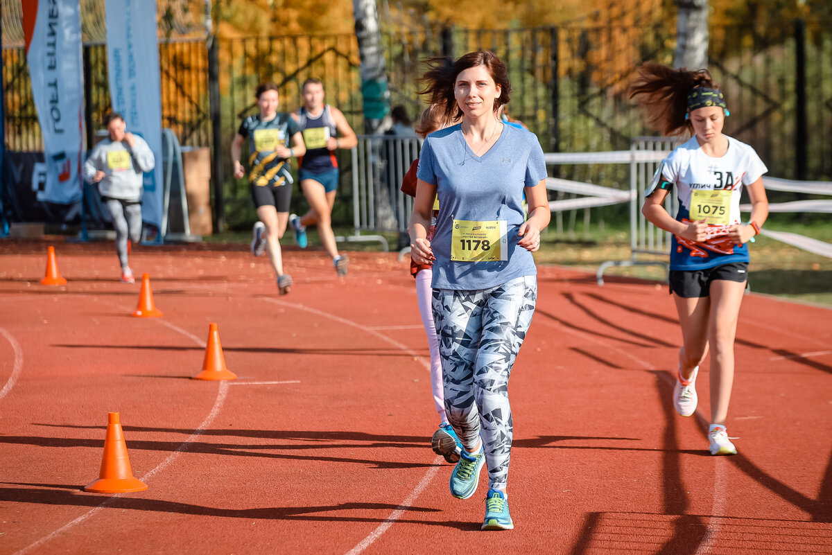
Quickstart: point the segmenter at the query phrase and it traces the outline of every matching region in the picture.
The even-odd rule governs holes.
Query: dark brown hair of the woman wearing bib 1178
[[[463,115],[463,111],[457,106],[456,97],[453,96],[453,87],[456,86],[457,76],[469,67],[485,66],[494,83],[500,87],[500,96],[494,99],[494,111],[508,104],[512,84],[508,81],[506,65],[493,52],[468,52],[455,61],[449,56],[430,58],[425,63],[428,65],[428,71],[419,79],[424,88],[418,91],[418,94],[429,95],[431,105],[443,106],[444,115],[448,119],[456,119]]]

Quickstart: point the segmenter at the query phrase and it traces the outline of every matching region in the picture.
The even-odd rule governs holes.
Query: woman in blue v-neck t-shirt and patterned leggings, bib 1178
[[[421,94],[462,122],[424,140],[410,218],[411,258],[433,267],[445,410],[463,444],[450,477],[468,499],[488,465],[483,530],[514,528],[508,510],[513,420],[508,378],[532,322],[532,253],[549,223],[546,163],[537,137],[498,120],[511,83],[493,52],[434,58]],[[526,193],[528,218],[522,208]],[[438,196],[436,233],[428,239]]]

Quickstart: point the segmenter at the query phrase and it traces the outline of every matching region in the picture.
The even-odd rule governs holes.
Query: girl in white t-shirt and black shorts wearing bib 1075
[[[673,402],[682,416],[696,411],[696,375],[711,350],[711,454],[736,454],[726,432],[734,381],[734,338],[748,279],[748,245],[768,217],[762,175],[767,169],[754,149],[722,126],[730,112],[707,70],[641,67],[631,96],[666,135],[693,136],[671,152],[647,191],[645,218],[673,233],[668,277],[684,345]],[[751,217],[740,219],[740,195],[747,189]],[[674,218],[664,209],[671,191],[679,200]]]

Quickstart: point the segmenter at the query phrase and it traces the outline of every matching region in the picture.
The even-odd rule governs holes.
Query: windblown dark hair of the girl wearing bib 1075
[[[638,77],[630,87],[630,98],[637,96],[639,104],[646,107],[647,123],[653,129],[669,136],[682,135],[693,131],[685,115],[687,94],[697,86],[719,88],[706,69],[673,69],[647,62],[638,70]]]

